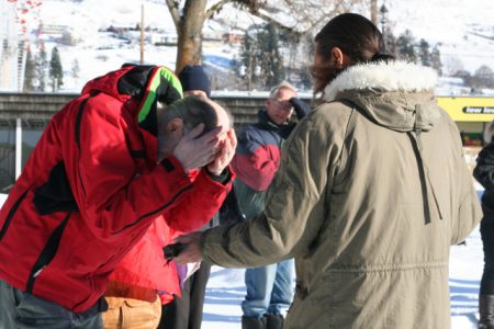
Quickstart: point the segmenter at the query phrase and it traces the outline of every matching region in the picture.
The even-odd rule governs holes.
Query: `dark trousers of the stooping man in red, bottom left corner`
[[[0,280],[0,329],[13,328],[99,329],[102,322],[98,305],[77,314]]]

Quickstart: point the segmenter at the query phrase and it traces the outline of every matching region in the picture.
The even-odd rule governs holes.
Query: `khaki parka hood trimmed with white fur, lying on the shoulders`
[[[348,67],[324,90],[325,101],[348,100],[379,125],[409,132],[431,129],[440,120],[434,88],[436,72],[405,61]],[[419,111],[420,115],[415,115]]]

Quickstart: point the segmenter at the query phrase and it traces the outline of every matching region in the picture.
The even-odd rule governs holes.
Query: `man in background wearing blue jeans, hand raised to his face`
[[[266,109],[259,112],[258,122],[239,135],[232,166],[238,178],[235,181],[238,206],[246,219],[255,218],[265,207],[266,190],[278,170],[281,146],[295,126],[289,122],[293,112],[301,120],[310,111],[296,97],[289,83],[277,86],[266,101]],[[292,259],[246,270],[244,329],[282,327],[282,313],[293,298],[293,272]]]

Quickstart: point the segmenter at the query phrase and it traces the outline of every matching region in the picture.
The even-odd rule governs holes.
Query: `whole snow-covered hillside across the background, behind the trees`
[[[271,0],[270,0],[271,1]],[[21,2],[21,1],[19,1]],[[41,1],[40,1],[41,2]],[[210,1],[214,3],[216,1]],[[210,3],[210,4],[211,4]],[[379,5],[382,3],[380,2]],[[494,69],[494,1],[492,0],[420,0],[384,1],[388,9],[386,29],[394,35],[411,30],[418,41],[425,38],[431,46],[438,45],[444,66],[465,69],[471,73],[486,65]],[[64,91],[79,91],[87,80],[116,69],[125,61],[138,63],[138,32],[130,34],[127,39],[119,39],[111,33],[101,33],[109,26],[136,26],[141,22],[141,8],[144,5],[144,25],[156,27],[160,33],[173,34],[175,25],[165,1],[156,0],[44,0],[36,11],[30,12],[26,20],[33,47],[36,39],[44,39],[49,52],[57,46],[65,70]],[[368,12],[361,12],[369,16]],[[328,18],[329,19],[329,18]],[[245,12],[227,5],[210,21],[204,33],[222,34],[232,29],[246,29],[259,22]],[[48,34],[37,35],[38,22],[45,26],[58,25],[67,29],[75,46],[55,44]],[[226,22],[218,24],[218,22]],[[229,26],[234,27],[229,27]],[[379,23],[380,27],[381,23]],[[150,33],[146,33],[149,41]],[[204,44],[204,55],[212,65],[229,63],[238,53],[238,45]],[[49,53],[48,53],[49,56]],[[71,79],[71,67],[77,59],[80,73],[77,80]],[[144,59],[148,64],[167,65],[175,68],[176,47],[153,46],[146,43]],[[224,68],[224,67],[223,67]],[[454,93],[449,84],[444,93]],[[451,90],[451,91],[450,91]],[[459,91],[458,91],[459,92]]]

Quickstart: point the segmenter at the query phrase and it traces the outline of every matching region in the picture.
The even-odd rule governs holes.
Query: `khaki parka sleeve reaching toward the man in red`
[[[260,266],[307,250],[327,214],[326,193],[344,139],[319,114],[314,111],[285,143],[263,213],[205,231],[201,240],[204,260],[222,266]],[[335,124],[346,126],[345,122]]]

